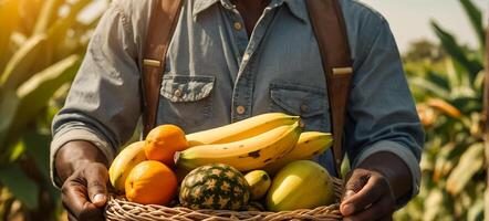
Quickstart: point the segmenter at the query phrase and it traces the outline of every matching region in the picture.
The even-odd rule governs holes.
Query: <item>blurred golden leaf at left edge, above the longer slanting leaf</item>
[[[0,78],[0,86],[17,88],[22,82],[27,81],[32,74],[29,72],[30,67],[41,55],[45,42],[45,34],[39,34],[29,39],[7,63]]]

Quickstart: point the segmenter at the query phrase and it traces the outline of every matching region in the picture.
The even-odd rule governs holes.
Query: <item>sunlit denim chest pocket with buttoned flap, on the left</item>
[[[162,82],[159,124],[175,124],[195,130],[212,113],[215,76],[165,75]]]

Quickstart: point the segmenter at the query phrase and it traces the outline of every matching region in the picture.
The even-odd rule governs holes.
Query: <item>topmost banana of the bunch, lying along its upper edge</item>
[[[298,120],[299,116],[290,116],[283,113],[268,113],[226,126],[189,134],[186,138],[190,147],[226,144],[263,134],[278,126],[292,125]]]

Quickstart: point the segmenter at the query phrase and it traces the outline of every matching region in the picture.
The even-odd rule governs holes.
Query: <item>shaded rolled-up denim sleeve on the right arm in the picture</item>
[[[345,150],[352,168],[379,151],[395,154],[404,160],[413,177],[413,189],[398,201],[400,207],[419,191],[425,135],[387,22],[378,19],[365,33],[368,38],[361,42],[365,50],[354,62]]]

